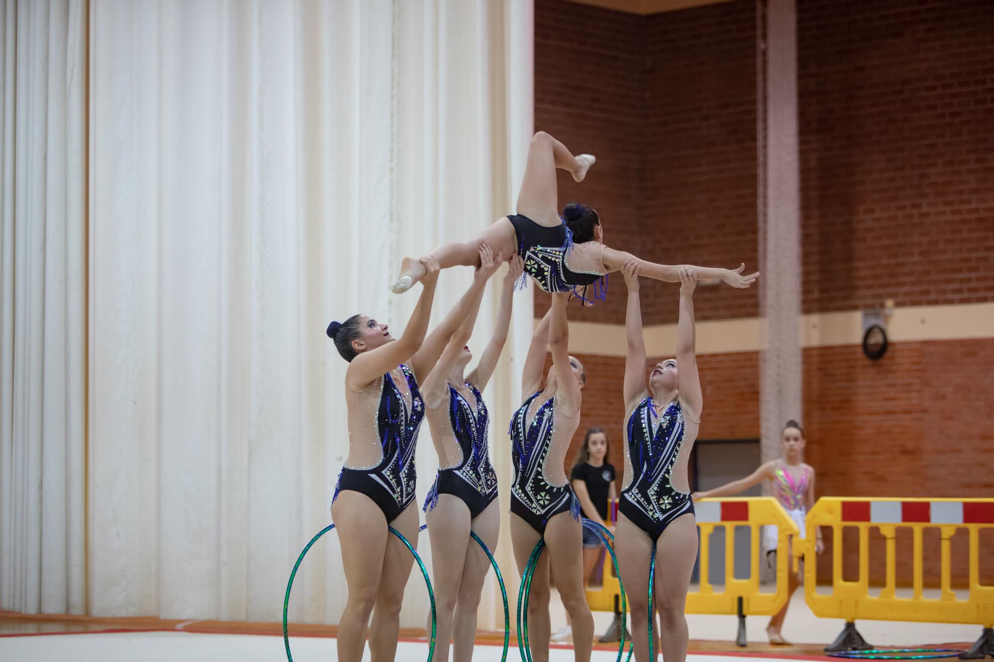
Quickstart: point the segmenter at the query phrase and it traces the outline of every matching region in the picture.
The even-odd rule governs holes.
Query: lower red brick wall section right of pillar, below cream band
[[[991,366],[994,339],[896,343],[876,363],[855,346],[805,350],[806,459],[817,471],[817,494],[990,497]],[[826,541],[831,549],[830,536]],[[953,548],[954,578],[962,583],[966,548]],[[847,539],[845,549],[847,566],[855,567],[855,539]],[[907,583],[910,543],[899,552],[898,579]],[[882,544],[871,553],[871,580],[882,582]],[[818,575],[830,581],[824,559]],[[981,567],[985,580],[994,581],[994,545],[984,547]],[[936,585],[937,563],[925,571],[926,582]]]

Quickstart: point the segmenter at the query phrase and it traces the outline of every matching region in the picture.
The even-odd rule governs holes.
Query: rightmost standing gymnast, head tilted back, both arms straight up
[[[697,523],[687,483],[687,457],[697,438],[703,396],[694,340],[693,269],[680,271],[680,318],[676,359],[660,361],[645,385],[645,341],[638,296],[639,266],[622,266],[628,285],[624,374],[624,480],[618,497],[615,553],[631,606],[635,659],[655,659],[648,650],[648,585],[656,546],[653,607],[660,628],[653,637],[666,662],[687,656],[684,603],[697,560]],[[661,636],[660,636],[661,632]]]

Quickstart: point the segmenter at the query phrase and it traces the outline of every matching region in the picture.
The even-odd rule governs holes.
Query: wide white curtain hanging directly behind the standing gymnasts
[[[355,312],[403,327],[419,288],[389,292],[401,257],[513,210],[531,10],[92,1],[94,615],[279,619],[348,452],[346,364],[324,329]],[[468,276],[442,276],[435,319]],[[517,398],[531,317],[519,294],[495,404]],[[502,411],[503,484],[506,425]],[[423,496],[437,466],[426,425],[417,465]],[[426,535],[419,549],[427,559]],[[344,594],[332,533],[301,567],[290,618],[337,622]],[[426,605],[415,568],[404,624],[423,625]]]

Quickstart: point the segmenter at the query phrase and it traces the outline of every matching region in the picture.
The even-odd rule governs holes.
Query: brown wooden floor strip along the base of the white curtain
[[[290,634],[293,636],[333,637],[337,633],[333,625],[291,624]],[[185,632],[217,633],[217,634],[269,634],[282,636],[281,623],[220,621],[220,620],[164,620],[152,617],[128,618],[93,618],[90,616],[73,616],[65,614],[33,614],[25,615],[15,611],[0,611],[0,636],[106,632],[106,631],[141,631],[141,630],[182,630]],[[404,638],[419,638],[424,636],[422,629],[404,629]],[[477,641],[499,644],[504,639],[503,632],[480,633]],[[517,638],[512,633],[512,645],[517,645]],[[596,644],[598,649],[617,650],[617,644]],[[766,643],[749,643],[746,648],[740,648],[731,641],[692,640],[691,652],[747,652],[768,653],[771,656],[815,656],[823,657],[820,647],[805,646],[770,646]]]

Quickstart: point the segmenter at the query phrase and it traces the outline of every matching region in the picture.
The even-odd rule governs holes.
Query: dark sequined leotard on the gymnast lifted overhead
[[[566,222],[550,228],[520,214],[509,214],[507,218],[518,236],[518,254],[525,260],[525,273],[532,276],[539,287],[547,292],[575,292],[577,287],[586,287],[600,280],[599,291],[594,288],[594,296],[601,300],[604,298],[607,284],[606,269],[599,257],[603,252],[601,245],[595,242],[575,245]],[[585,260],[575,261],[588,261],[590,263],[585,266],[592,268],[582,268],[577,264],[573,264],[576,270],[571,268],[571,257],[576,257],[577,247],[584,247],[579,250],[591,254],[584,254],[587,257]],[[597,250],[596,254],[592,254]]]

